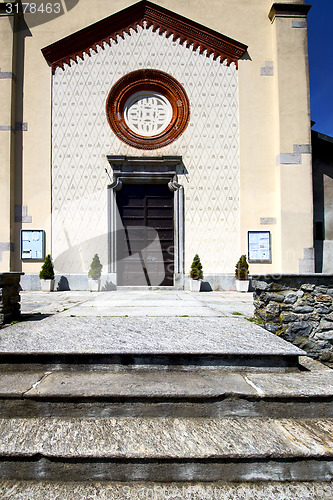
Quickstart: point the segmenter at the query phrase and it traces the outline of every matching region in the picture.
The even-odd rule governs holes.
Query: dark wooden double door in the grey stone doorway
[[[166,184],[125,184],[117,192],[119,285],[173,285],[173,197]]]

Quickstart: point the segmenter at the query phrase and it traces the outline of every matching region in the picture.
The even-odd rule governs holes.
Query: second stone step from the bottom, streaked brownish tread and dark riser
[[[0,479],[328,481],[333,419],[0,419]]]

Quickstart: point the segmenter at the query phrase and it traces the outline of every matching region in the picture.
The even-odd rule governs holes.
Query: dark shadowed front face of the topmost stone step
[[[191,371],[297,372],[298,356],[233,354],[152,354],[152,353],[31,353],[0,355],[3,372],[55,369],[67,371]]]

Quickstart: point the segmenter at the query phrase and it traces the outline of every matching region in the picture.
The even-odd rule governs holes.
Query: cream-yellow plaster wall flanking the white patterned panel
[[[51,70],[41,48],[99,21],[134,2],[80,0],[64,16],[20,32],[24,44],[22,133],[22,204],[27,205],[32,224],[16,223],[15,245],[19,248],[19,229],[46,230],[46,251],[51,251]],[[156,0],[156,3],[189,17],[248,45],[248,55],[239,62],[240,126],[240,235],[241,253],[247,251],[248,230],[270,230],[272,264],[253,264],[252,273],[298,272],[303,249],[312,247],[311,155],[302,154],[301,164],[276,165],[281,153],[293,153],[294,145],[310,143],[309,85],[306,28],[292,28],[291,18],[268,18],[271,0]],[[284,3],[304,3],[295,0]],[[11,60],[8,19],[1,19],[0,36],[6,40],[1,61]],[[6,31],[7,29],[7,31]],[[27,36],[25,36],[27,35]],[[3,47],[4,44],[1,44]],[[8,54],[7,54],[8,52]],[[266,62],[273,63],[272,76],[261,75]],[[1,71],[10,71],[1,62]],[[10,93],[10,82],[1,81]],[[0,108],[2,111],[5,107]],[[4,121],[4,119],[2,119]],[[6,121],[7,123],[7,121]],[[8,158],[10,133],[0,132],[2,158]],[[6,160],[7,162],[7,160]],[[9,161],[8,161],[9,165]],[[19,173],[19,172],[18,172]],[[8,168],[1,169],[1,238],[8,240]],[[276,224],[262,225],[261,218],[274,218]],[[8,252],[3,256],[7,259]],[[17,252],[12,270],[20,270]],[[235,261],[237,260],[235,256]],[[8,259],[0,262],[7,270]],[[24,272],[38,272],[40,263],[24,262]]]

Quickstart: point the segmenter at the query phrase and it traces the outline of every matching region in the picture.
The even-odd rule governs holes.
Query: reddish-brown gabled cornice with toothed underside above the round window
[[[219,57],[221,62],[234,62],[236,66],[247,49],[246,45],[217,31],[143,0],[45,47],[42,52],[54,71],[58,66],[70,64],[71,60],[76,62],[84,53],[90,55],[90,50],[97,51],[97,46],[110,45],[111,40],[130,34],[131,29],[137,31],[138,26],[152,27],[153,31],[165,33],[187,47],[193,46],[207,57],[213,55],[214,59]]]

